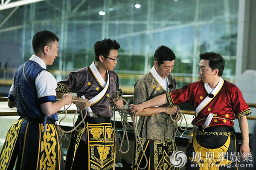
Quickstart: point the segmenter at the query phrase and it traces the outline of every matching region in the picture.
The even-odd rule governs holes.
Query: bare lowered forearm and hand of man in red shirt
[[[249,156],[250,147],[249,147],[249,130],[248,130],[248,122],[246,116],[242,116],[238,119],[239,127],[241,130],[241,135],[243,139],[243,143],[240,147],[240,155],[243,156],[242,159],[244,160]]]

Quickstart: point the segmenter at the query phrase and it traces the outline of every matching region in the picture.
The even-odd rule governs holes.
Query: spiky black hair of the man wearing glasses
[[[116,40],[111,40],[110,38],[105,38],[102,41],[97,41],[94,44],[95,61],[99,61],[100,55],[107,58],[111,50],[118,50],[119,48],[119,43],[116,42]]]

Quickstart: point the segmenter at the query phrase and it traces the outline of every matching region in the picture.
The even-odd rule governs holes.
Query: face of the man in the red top
[[[211,83],[214,80],[214,71],[212,71],[212,68],[209,66],[209,60],[200,60],[199,75],[203,83]]]

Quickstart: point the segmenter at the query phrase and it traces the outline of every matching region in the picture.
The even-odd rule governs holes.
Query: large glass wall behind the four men
[[[132,94],[137,78],[150,71],[160,45],[176,54],[172,74],[178,88],[198,80],[198,56],[205,51],[225,58],[223,77],[234,82],[238,4],[239,0],[45,0],[1,10],[0,79],[12,79],[33,53],[33,34],[47,29],[60,38],[59,57],[48,67],[57,81],[89,66],[94,43],[110,37],[121,45],[115,71],[125,94]]]

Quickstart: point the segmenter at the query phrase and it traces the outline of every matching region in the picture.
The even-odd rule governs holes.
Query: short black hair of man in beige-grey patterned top
[[[164,45],[161,45],[160,47],[158,47],[154,53],[154,60],[157,62],[158,65],[163,64],[164,61],[172,61],[174,59],[175,59],[174,52],[170,48]]]

